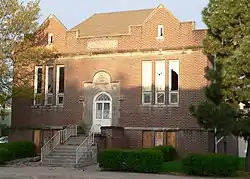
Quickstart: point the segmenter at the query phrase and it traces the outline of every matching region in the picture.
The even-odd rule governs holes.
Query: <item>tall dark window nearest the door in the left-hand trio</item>
[[[64,65],[57,66],[56,72],[56,104],[64,103]]]

